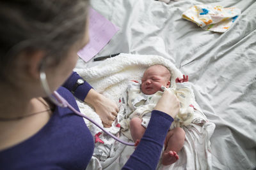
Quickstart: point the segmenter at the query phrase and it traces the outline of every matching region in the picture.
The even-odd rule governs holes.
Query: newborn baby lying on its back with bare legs
[[[131,118],[130,131],[132,139],[135,142],[138,143],[138,141],[140,141],[147,128],[151,111],[154,110],[154,106],[156,106],[157,101],[163,94],[161,87],[170,87],[170,78],[170,71],[166,67],[157,64],[148,67],[144,72],[143,78],[141,79],[141,88],[138,81],[132,81],[128,85],[129,106],[132,107],[134,111],[137,110],[137,113],[140,112],[138,110],[144,110],[138,117]],[[188,81],[188,76],[179,81],[180,83]],[[184,139],[185,132],[182,128],[175,127],[168,131],[164,141],[164,152],[162,155],[162,163],[164,166],[173,164],[179,159],[177,153],[183,147]]]

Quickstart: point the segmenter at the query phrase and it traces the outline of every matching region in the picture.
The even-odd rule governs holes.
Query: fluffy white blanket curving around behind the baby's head
[[[182,73],[170,60],[156,55],[132,55],[127,53],[120,53],[120,55],[107,59],[97,66],[88,69],[74,69],[74,71],[90,83],[97,92],[117,103],[120,95],[127,89],[128,81],[140,80],[145,69],[154,64],[161,64],[170,70],[172,74],[171,87],[175,87],[175,78],[182,78]],[[101,124],[99,116],[95,114],[90,106],[78,100],[77,103],[83,113]],[[97,128],[93,129],[93,124],[88,120],[85,120],[85,122],[92,131],[99,131]]]

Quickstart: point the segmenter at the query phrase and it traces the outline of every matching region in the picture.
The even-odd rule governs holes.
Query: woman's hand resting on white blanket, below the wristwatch
[[[84,102],[93,106],[104,127],[111,127],[119,111],[118,106],[113,101],[91,89],[85,97]]]

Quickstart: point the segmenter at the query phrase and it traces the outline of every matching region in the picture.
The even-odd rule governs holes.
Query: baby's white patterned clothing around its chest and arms
[[[191,124],[193,121],[195,106],[195,96],[189,83],[177,83],[177,88],[169,88],[177,96],[180,101],[180,111],[174,118],[174,122],[170,129],[173,127],[182,127]],[[152,95],[145,95],[141,92],[140,83],[138,81],[130,81],[127,88],[128,105],[131,112],[124,118],[120,125],[122,132],[127,138],[131,138],[131,132],[129,131],[129,123],[133,117],[140,117],[143,121],[141,125],[147,127],[150,118],[147,118],[148,113],[154,110],[157,102],[163,95],[163,92],[158,91]],[[168,103],[168,101],[166,101]],[[127,110],[127,109],[126,109]],[[144,118],[146,117],[146,118]],[[145,121],[145,122],[144,122]]]

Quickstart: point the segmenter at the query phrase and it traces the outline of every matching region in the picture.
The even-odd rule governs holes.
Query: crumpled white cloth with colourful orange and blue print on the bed
[[[204,30],[225,32],[241,14],[237,8],[195,5],[182,14],[182,18],[194,22]]]

